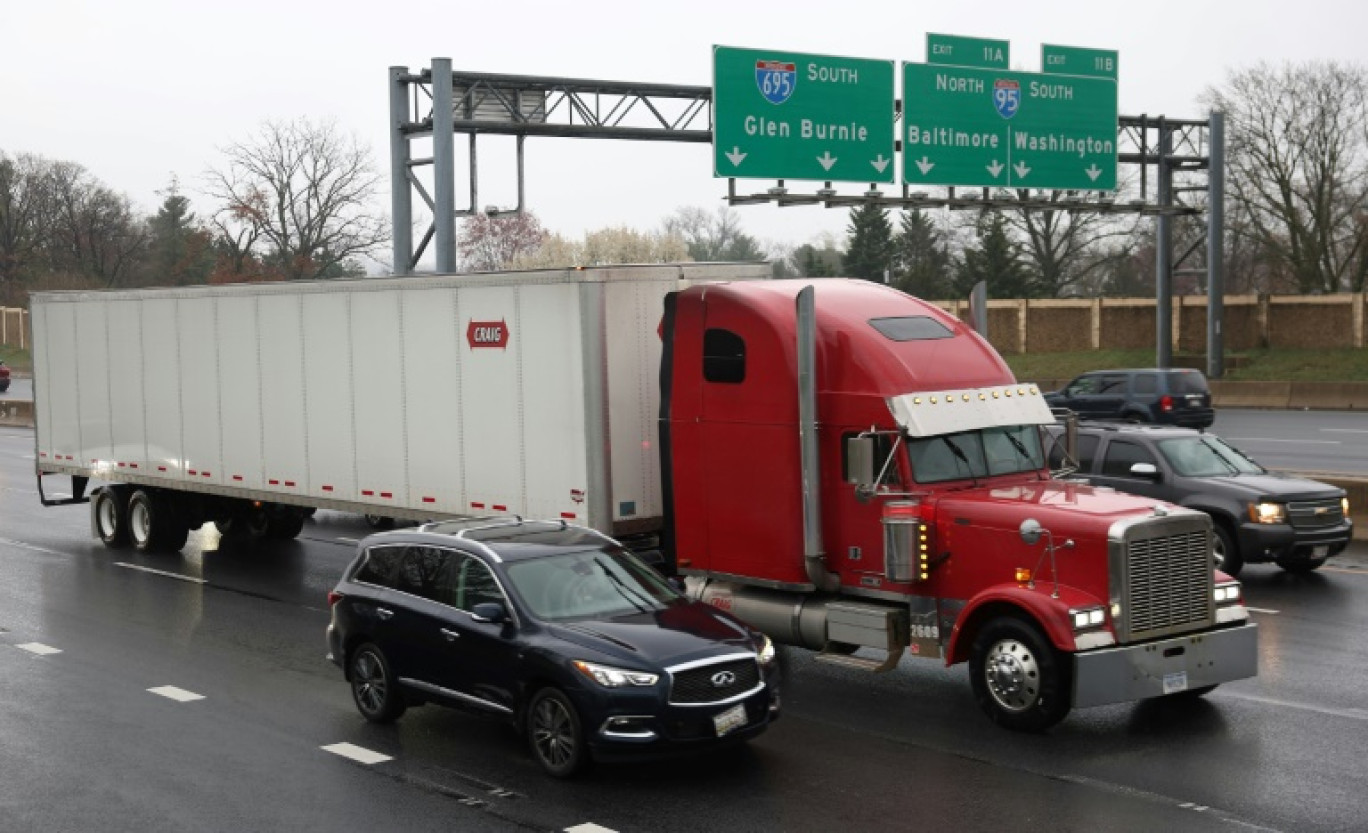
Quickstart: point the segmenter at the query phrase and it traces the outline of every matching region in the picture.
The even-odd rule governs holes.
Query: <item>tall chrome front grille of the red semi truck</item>
[[[1130,527],[1122,544],[1122,642],[1183,633],[1212,622],[1213,564],[1202,521],[1174,516]]]

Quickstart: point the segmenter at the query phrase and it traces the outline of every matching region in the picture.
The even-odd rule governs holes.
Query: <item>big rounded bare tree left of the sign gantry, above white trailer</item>
[[[371,153],[334,124],[267,122],[224,155],[226,167],[207,174],[219,202],[209,222],[228,268],[244,276],[354,274],[357,259],[389,242],[389,220],[372,204],[380,176]]]

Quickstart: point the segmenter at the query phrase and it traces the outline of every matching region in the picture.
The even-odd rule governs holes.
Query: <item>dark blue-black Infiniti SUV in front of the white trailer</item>
[[[564,523],[446,521],[360,543],[328,594],[328,658],[361,715],[501,715],[553,776],[707,750],[778,717],[769,637]]]

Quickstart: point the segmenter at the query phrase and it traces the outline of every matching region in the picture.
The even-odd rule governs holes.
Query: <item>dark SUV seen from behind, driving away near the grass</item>
[[[1211,388],[1200,371],[1141,368],[1093,371],[1045,394],[1051,408],[1081,419],[1118,419],[1207,428],[1216,420]]]

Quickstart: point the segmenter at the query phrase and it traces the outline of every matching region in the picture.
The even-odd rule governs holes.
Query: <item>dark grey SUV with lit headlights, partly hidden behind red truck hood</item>
[[[1071,468],[1063,427],[1052,469]],[[1075,476],[1094,486],[1157,498],[1211,516],[1218,566],[1235,576],[1245,564],[1276,562],[1313,570],[1341,553],[1353,533],[1345,490],[1264,469],[1212,434],[1159,425],[1079,423]]]

